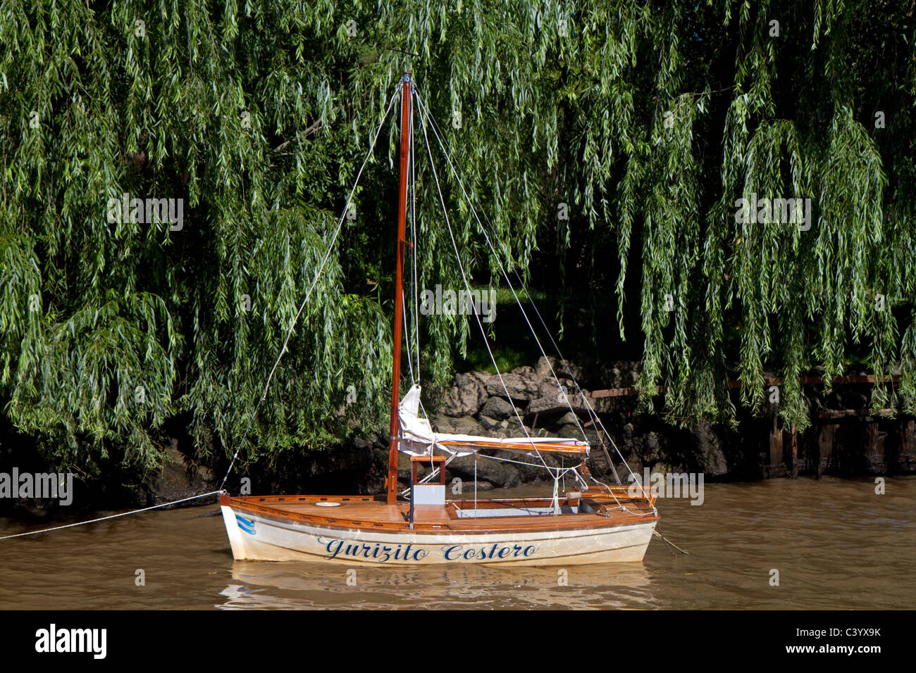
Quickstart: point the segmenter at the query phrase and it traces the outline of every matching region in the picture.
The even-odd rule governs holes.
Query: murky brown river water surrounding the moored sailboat
[[[703,505],[659,501],[661,533],[690,556],[656,537],[642,563],[359,568],[355,586],[343,566],[235,561],[223,518],[207,516],[216,505],[156,510],[0,540],[0,609],[912,609],[916,477],[887,478],[885,488],[707,483]],[[26,529],[0,518],[0,536]]]

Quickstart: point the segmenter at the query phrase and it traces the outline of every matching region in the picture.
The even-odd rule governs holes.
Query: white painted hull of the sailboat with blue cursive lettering
[[[360,530],[275,519],[221,506],[236,560],[347,565],[552,566],[640,561],[655,520],[573,530],[495,533]]]

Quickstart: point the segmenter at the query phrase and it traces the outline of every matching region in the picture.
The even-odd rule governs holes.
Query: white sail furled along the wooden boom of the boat
[[[398,449],[411,456],[430,455],[431,449],[466,456],[481,449],[518,450],[535,455],[536,451],[588,455],[587,441],[554,437],[494,438],[433,432],[430,421],[420,418],[420,385],[413,385],[400,401],[400,437]]]

